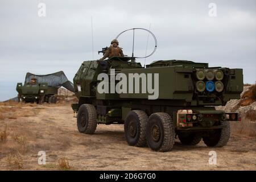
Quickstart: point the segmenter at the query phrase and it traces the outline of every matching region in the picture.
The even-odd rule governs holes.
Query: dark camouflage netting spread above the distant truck
[[[27,73],[25,78],[25,83],[30,82],[31,78],[36,78],[37,82],[43,83],[47,82],[48,86],[54,86],[60,88],[63,86],[64,88],[68,89],[71,92],[74,92],[74,85],[71,81],[68,80],[67,76],[65,76],[63,71],[48,74],[48,75],[35,75],[32,73]]]

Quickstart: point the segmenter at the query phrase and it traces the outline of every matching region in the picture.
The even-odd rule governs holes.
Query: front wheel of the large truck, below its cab
[[[80,133],[93,134],[97,127],[97,113],[93,105],[83,104],[77,113],[77,129]]]

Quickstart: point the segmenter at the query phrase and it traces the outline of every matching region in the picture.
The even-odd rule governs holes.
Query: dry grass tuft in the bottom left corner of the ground
[[[7,164],[10,169],[22,169],[23,168],[23,156],[21,154],[9,154],[6,157]]]

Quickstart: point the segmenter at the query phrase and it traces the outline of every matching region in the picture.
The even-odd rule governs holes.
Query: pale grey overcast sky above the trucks
[[[38,16],[39,3],[46,17]],[[209,16],[216,3],[217,16]],[[158,48],[154,60],[192,60],[210,67],[243,68],[244,82],[256,80],[256,1],[0,1],[0,101],[15,97],[27,72],[64,71],[69,80],[84,60],[100,59],[102,47],[119,32],[149,28]],[[92,23],[93,20],[93,23]],[[92,29],[93,48],[92,53]],[[131,56],[132,34],[119,46]],[[135,32],[135,56],[144,56],[147,33]],[[154,48],[150,37],[147,52]],[[144,59],[139,59],[142,65]]]

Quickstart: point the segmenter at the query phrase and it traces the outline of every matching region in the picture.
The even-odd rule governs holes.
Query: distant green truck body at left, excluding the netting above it
[[[18,92],[18,101],[22,102],[36,102],[37,104],[43,104],[43,102],[56,103],[55,94],[58,92],[58,88],[48,86],[47,82],[41,84],[31,84],[30,82],[22,85],[19,82],[16,86]]]

